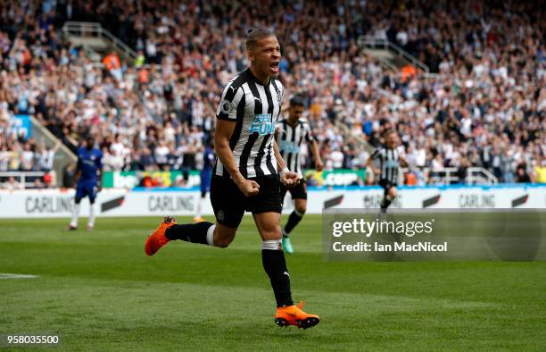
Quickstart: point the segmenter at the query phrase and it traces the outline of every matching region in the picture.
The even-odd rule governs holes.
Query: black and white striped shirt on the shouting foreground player
[[[250,69],[224,88],[216,117],[236,122],[229,147],[244,178],[277,173],[273,138],[284,91],[282,83],[273,78],[264,86]],[[229,177],[218,158],[214,173]]]

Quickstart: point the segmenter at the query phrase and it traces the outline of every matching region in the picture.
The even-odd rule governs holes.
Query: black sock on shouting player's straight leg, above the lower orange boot
[[[263,269],[268,273],[271,287],[275,293],[277,306],[293,306],[290,291],[290,276],[286,269],[285,252],[282,250],[261,250]]]

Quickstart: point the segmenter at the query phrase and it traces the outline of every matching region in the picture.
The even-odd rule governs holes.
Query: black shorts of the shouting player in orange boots
[[[245,211],[252,214],[281,213],[278,174],[254,177],[249,180],[258,182],[260,192],[252,197],[244,197],[243,192],[230,178],[212,176],[211,204],[217,222],[230,228],[236,228],[243,220]]]

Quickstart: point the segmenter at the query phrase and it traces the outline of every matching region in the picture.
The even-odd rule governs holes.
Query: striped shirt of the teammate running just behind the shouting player
[[[286,120],[278,123],[277,145],[278,151],[286,162],[286,167],[291,172],[298,172],[302,176],[300,152],[302,141],[310,143],[314,140],[310,126],[307,122],[299,121],[294,127]]]

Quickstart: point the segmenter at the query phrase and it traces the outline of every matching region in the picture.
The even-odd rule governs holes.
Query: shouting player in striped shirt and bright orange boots
[[[227,247],[244,212],[250,211],[262,239],[263,268],[277,300],[275,323],[307,329],[319,318],[303,312],[302,305],[294,306],[281,244],[280,184],[294,186],[300,177],[288,170],[274,138],[284,96],[284,87],[276,80],[280,46],[269,29],[252,29],[245,44],[250,67],[229,81],[217,111],[217,160],[211,180],[216,224],[177,224],[166,217],[146,239],[145,253],[153,256],[172,239]]]

